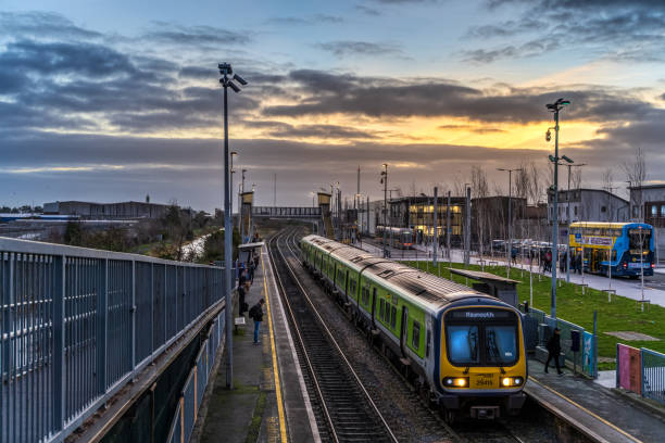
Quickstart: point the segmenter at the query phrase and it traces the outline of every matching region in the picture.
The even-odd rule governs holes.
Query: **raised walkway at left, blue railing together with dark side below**
[[[223,289],[222,267],[0,238],[0,442],[186,442]]]

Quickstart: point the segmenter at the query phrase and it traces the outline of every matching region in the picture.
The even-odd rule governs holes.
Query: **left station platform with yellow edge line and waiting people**
[[[266,246],[246,303],[251,307],[260,299],[266,301],[260,344],[253,344],[254,321],[244,313],[246,325],[234,332],[234,389],[226,387],[224,352],[191,442],[321,441]],[[238,317],[236,300],[234,318]]]

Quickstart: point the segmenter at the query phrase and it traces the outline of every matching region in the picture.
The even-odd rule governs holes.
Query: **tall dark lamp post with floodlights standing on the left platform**
[[[234,262],[231,245],[233,245],[233,228],[230,214],[230,174],[229,174],[229,153],[228,153],[228,93],[227,89],[231,88],[235,92],[240,92],[240,88],[233,81],[236,80],[240,85],[247,85],[238,74],[234,74],[234,69],[229,63],[218,64],[219,74],[223,76],[219,79],[224,88],[224,286],[226,300],[226,387],[234,389],[234,345],[233,345],[233,294],[231,294],[231,264]],[[233,79],[229,76],[234,74]]]

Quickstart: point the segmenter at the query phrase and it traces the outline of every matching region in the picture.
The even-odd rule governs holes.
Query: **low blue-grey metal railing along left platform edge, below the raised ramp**
[[[217,351],[224,346],[224,313],[221,313],[214,321],[208,339],[201,344],[185,387],[180,392],[178,406],[171,421],[167,443],[187,443],[191,436],[210,372],[212,371]]]

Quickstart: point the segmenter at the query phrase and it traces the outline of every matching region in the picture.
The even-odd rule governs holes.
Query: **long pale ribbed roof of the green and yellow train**
[[[308,236],[303,240],[328,251],[332,256],[346,261],[355,270],[367,273],[374,280],[406,293],[419,304],[437,309],[466,298],[498,300],[464,284],[434,276],[411,266],[381,258],[368,252],[348,246],[319,236]]]

